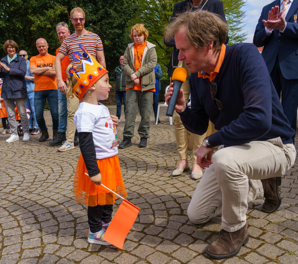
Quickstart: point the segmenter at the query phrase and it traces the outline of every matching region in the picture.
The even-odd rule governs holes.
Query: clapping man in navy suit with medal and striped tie
[[[298,107],[298,1],[276,0],[263,7],[254,32],[285,116],[296,131]],[[293,136],[293,141],[294,141]]]

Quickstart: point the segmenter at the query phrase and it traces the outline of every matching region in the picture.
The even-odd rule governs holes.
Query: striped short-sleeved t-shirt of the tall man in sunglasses
[[[82,52],[79,43],[82,44],[87,49],[87,51],[94,58],[96,58],[96,60],[96,51],[103,50],[103,43],[97,34],[90,31],[82,36],[76,36],[75,34],[72,34],[64,39],[59,49],[60,53],[68,56],[69,63],[80,64],[79,61],[75,61],[72,59],[72,54],[74,52]]]

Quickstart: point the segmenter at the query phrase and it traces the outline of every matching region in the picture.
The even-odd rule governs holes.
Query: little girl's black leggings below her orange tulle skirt
[[[88,206],[88,224],[91,233],[103,228],[102,221],[108,223],[112,220],[113,204]]]

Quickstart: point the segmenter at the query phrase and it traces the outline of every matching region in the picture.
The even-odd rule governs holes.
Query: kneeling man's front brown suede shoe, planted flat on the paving
[[[248,239],[246,225],[235,232],[227,232],[221,229],[219,237],[208,247],[206,254],[214,259],[233,257],[248,242]]]

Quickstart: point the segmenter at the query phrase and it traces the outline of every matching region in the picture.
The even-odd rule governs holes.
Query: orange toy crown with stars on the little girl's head
[[[69,74],[77,79],[77,83],[73,86],[73,93],[81,102],[86,91],[108,71],[88,53],[82,44],[79,46],[83,52],[74,52],[72,58],[81,64],[76,68],[70,68]]]

